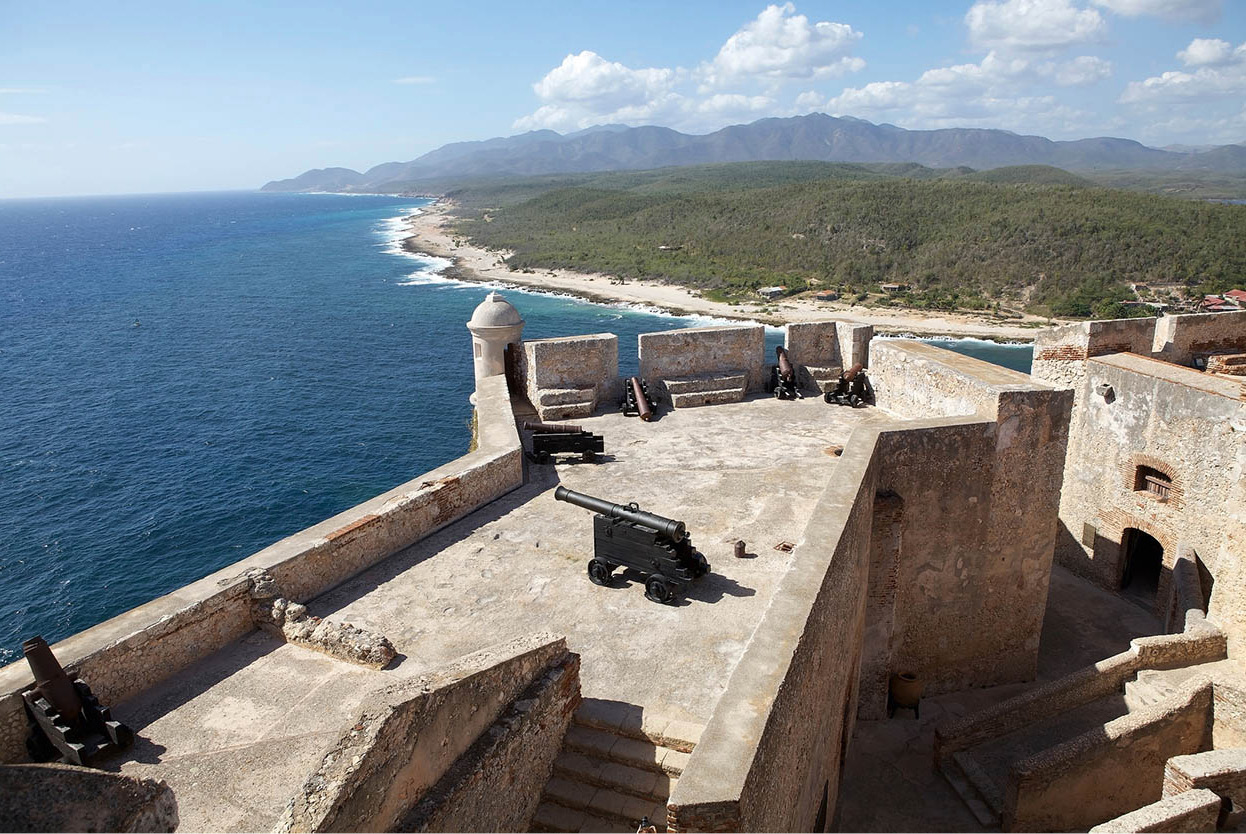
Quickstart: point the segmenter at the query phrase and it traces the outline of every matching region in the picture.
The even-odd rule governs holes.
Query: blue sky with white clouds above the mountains
[[[537,127],[814,111],[1244,142],[1246,0],[0,0],[0,197],[250,188]]]

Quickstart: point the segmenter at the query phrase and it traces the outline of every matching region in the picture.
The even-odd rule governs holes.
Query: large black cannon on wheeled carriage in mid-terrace
[[[645,575],[644,596],[673,602],[693,580],[709,572],[709,562],[693,547],[683,521],[645,512],[635,504],[611,504],[559,486],[559,501],[593,510],[593,558],[588,578],[609,585],[614,568],[630,567]]]

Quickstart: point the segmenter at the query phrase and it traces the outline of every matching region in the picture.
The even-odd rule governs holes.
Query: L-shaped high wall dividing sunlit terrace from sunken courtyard
[[[881,636],[891,671],[912,668],[932,691],[1033,677],[1070,396],[1028,388],[999,395],[998,424],[949,416],[852,434],[670,798],[674,830],[812,830],[820,810],[834,815],[867,697],[863,654],[880,647],[866,622],[880,582],[898,585],[896,625]],[[1009,466],[1015,476],[997,471]],[[871,576],[875,514],[891,495],[900,567]],[[868,697],[885,702],[877,689]]]

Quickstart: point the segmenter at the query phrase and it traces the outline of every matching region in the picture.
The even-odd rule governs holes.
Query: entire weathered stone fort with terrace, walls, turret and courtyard
[[[1246,312],[1040,332],[1030,375],[871,328],[467,323],[471,450],[52,647],[131,748],[6,830],[1229,830],[1246,807]],[[466,339],[465,339],[466,342]],[[865,408],[820,390],[863,364]],[[573,419],[596,461],[530,460]],[[556,486],[687,524],[670,605]],[[738,547],[738,542],[744,542]],[[897,681],[920,688],[901,698]]]

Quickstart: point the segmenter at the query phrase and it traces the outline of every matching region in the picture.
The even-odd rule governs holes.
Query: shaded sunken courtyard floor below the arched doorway
[[[1038,679],[1050,681],[1160,633],[1136,602],[1055,566],[1039,645]],[[934,769],[934,728],[1033,684],[967,689],[922,701],[921,721],[900,711],[890,721],[857,722],[840,789],[842,832],[983,832]]]

